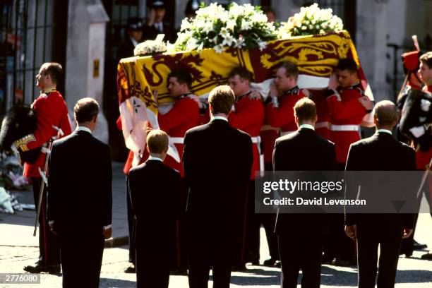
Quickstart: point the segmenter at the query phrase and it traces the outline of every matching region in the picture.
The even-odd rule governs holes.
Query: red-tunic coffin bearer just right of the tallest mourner
[[[229,87],[232,88],[236,101],[232,107],[232,112],[228,116],[228,122],[234,128],[248,133],[253,143],[253,164],[251,171],[251,181],[246,196],[246,255],[241,253],[239,265],[236,269],[244,269],[244,264],[251,262],[259,265],[260,259],[260,219],[255,214],[254,191],[256,173],[264,169],[263,157],[260,152],[260,128],[264,121],[264,106],[260,99],[251,99],[253,92],[250,87],[252,73],[246,68],[236,67],[228,75]],[[246,236],[245,235],[245,236]],[[242,245],[243,246],[243,245]],[[243,251],[243,249],[241,249]],[[246,256],[246,258],[244,258]]]

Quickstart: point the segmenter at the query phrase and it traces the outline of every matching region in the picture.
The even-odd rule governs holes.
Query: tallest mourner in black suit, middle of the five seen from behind
[[[189,287],[229,287],[239,254],[245,197],[253,162],[251,136],[228,124],[234,104],[229,86],[210,92],[211,120],[184,138],[183,165],[189,187]]]

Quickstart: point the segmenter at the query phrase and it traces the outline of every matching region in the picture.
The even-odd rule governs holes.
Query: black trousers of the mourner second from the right
[[[302,288],[320,287],[323,239],[316,235],[278,234],[282,288],[296,288],[299,270]]]

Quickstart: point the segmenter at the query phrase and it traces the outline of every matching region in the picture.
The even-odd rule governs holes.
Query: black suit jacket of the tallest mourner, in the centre
[[[204,229],[208,222],[221,228],[230,224],[244,208],[252,162],[251,136],[227,121],[215,119],[188,130],[183,165],[193,221],[202,221]]]

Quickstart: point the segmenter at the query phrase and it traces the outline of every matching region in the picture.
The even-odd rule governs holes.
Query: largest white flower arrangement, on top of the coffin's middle
[[[230,4],[228,10],[213,3],[196,11],[196,18],[181,23],[174,51],[201,51],[213,48],[217,53],[224,47],[251,49],[265,47],[265,42],[277,38],[275,25],[258,6]]]

